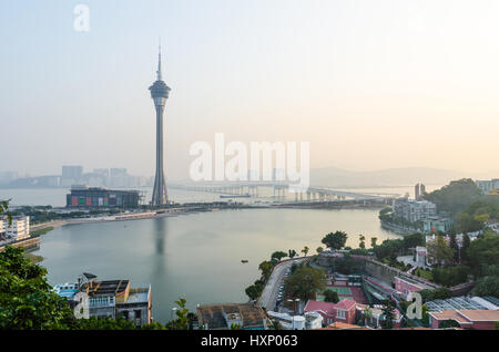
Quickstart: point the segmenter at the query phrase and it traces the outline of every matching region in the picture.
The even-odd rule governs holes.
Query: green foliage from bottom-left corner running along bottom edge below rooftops
[[[123,318],[77,320],[67,299],[52,291],[47,269],[32,265],[22,248],[6,247],[0,252],[0,329],[1,330],[185,330],[192,329],[193,314],[185,300],[175,303],[176,319],[166,325],[159,322],[135,328]]]

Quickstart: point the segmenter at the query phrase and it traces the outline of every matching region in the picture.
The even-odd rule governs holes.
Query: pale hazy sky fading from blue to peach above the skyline
[[[0,0],[0,172],[153,175],[159,35],[171,179],[216,132],[310,142],[312,167],[498,169],[498,18],[497,0]]]

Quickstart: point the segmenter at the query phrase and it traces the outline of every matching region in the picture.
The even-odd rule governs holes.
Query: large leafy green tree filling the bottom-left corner
[[[22,248],[0,252],[0,329],[74,329],[68,301],[52,291],[47,269],[22,256]]]

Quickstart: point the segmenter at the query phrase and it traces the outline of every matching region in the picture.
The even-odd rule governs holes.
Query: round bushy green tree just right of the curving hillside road
[[[308,301],[315,298],[317,291],[324,290],[326,275],[324,270],[298,268],[284,283],[286,297]]]

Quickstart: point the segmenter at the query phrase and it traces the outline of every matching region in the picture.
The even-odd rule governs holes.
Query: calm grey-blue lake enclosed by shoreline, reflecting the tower
[[[378,242],[398,235],[380,228],[377,210],[244,209],[163,219],[60,227],[44,235],[37,253],[45,257],[52,284],[74,281],[81,272],[100,279],[152,284],[153,317],[170,319],[180,296],[196,303],[242,302],[258,277],[257,265],[275,250],[308,246],[313,251],[329,231],[358,234]],[[249,260],[241,263],[242,259]]]

